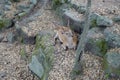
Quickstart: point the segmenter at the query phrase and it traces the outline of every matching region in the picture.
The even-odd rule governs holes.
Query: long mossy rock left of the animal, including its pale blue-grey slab
[[[51,42],[51,36],[51,34],[43,32],[40,32],[40,34],[37,35],[32,62],[29,64],[30,70],[41,80],[47,80],[49,71],[52,69],[53,65],[54,47]],[[37,63],[35,61],[37,61]],[[40,68],[38,66],[40,66]]]

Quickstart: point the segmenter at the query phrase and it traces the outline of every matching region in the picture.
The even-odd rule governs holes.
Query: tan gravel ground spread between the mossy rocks
[[[72,1],[78,1],[79,4],[82,0]],[[108,3],[103,3],[101,1],[102,0],[99,0],[99,2],[98,0],[93,0],[93,11],[96,11],[98,13],[102,12],[98,9],[98,7],[96,7],[96,5],[103,7],[104,4],[104,7],[107,7],[109,9],[111,9],[113,6],[114,8],[112,9],[118,11],[115,14],[120,14],[120,8],[118,7],[119,3],[115,1],[111,2],[111,0],[106,0]],[[83,0],[83,2],[85,1]],[[103,12],[101,14],[103,14]],[[106,14],[107,13],[105,12],[104,15]],[[37,17],[34,17],[34,20],[28,21],[26,23],[20,23],[24,23],[24,25],[21,24],[21,26],[28,35],[35,35],[41,30],[53,31],[55,26],[52,22],[61,23],[61,20],[55,16],[53,12],[45,10],[41,16],[38,15]],[[20,50],[22,48],[26,49],[27,55],[31,55],[32,50],[34,49],[34,45],[19,44],[17,42],[14,44],[3,42],[0,43],[0,80],[38,80],[36,77],[34,78],[34,76],[28,70],[28,61],[21,59]],[[53,69],[50,71],[49,80],[71,80],[69,76],[74,65],[74,58],[74,50],[64,51],[61,48],[60,44],[57,44],[55,46],[55,62]],[[115,80],[105,78],[101,65],[102,58],[94,56],[92,53],[87,52],[83,54],[82,62],[84,63],[83,74],[76,80]]]

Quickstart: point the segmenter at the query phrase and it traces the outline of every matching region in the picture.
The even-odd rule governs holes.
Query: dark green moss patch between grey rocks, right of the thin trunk
[[[108,49],[105,39],[96,41],[96,45],[100,48],[100,52],[102,53],[102,56],[104,56]]]

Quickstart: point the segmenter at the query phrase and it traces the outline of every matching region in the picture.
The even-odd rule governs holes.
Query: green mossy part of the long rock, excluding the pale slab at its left
[[[54,61],[54,47],[50,42],[51,35],[41,32],[41,34],[36,37],[36,47],[33,52],[33,55],[36,55],[38,61],[42,64],[44,68],[44,74],[41,77],[41,80],[46,80],[49,75],[49,71],[53,66]]]

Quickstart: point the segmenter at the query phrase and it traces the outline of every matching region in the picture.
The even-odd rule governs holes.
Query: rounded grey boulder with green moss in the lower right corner
[[[120,49],[110,50],[104,57],[104,70],[106,73],[115,74],[120,77]]]

